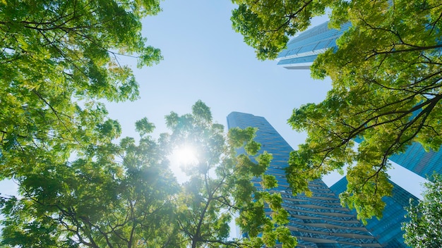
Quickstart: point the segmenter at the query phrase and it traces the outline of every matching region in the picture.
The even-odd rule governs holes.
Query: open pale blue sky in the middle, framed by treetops
[[[189,113],[201,99],[218,123],[226,125],[232,111],[252,113],[267,118],[292,147],[304,140],[287,119],[294,107],[321,101],[330,89],[328,80],[312,80],[309,70],[258,61],[243,37],[232,30],[230,1],[167,0],[162,8],[158,16],[145,19],[143,35],[148,44],[162,50],[164,60],[134,69],[141,99],[108,106],[111,117],[123,125],[124,135],[135,135],[133,123],[144,116],[155,123],[157,132],[165,132],[167,113]]]

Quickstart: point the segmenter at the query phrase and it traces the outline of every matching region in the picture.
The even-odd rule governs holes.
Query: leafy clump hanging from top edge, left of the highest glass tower
[[[244,42],[256,49],[258,59],[273,59],[285,48],[289,36],[306,30],[314,16],[322,16],[335,1],[268,1],[232,0],[235,31]]]

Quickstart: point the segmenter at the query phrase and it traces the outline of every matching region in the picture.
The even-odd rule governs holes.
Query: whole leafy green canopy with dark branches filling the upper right
[[[288,8],[292,1],[275,6],[235,2],[239,8],[232,16],[234,28],[257,49],[258,58],[274,58],[287,35],[308,25],[304,16],[321,13],[310,8],[330,8],[330,28],[352,24],[338,39],[338,49],[318,55],[311,66],[312,76],[330,77],[333,89],[321,103],[294,109],[288,120],[294,130],[308,134],[292,153],[288,173],[295,176],[289,181],[293,187],[306,185],[304,180],[347,164],[349,184],[342,202],[357,209],[359,218],[381,216],[382,197],[391,190],[388,157],[412,142],[434,150],[442,145],[440,2],[330,1],[319,3],[319,8],[315,1],[297,1],[306,10],[299,13],[299,25],[287,21],[297,22],[287,17],[299,9]],[[260,55],[271,50],[261,46],[274,43],[274,52]],[[303,190],[306,187],[294,192]]]

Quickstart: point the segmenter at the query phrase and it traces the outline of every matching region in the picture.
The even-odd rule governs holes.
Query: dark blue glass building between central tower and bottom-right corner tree
[[[386,203],[386,207],[383,210],[383,217],[378,220],[378,218],[374,217],[370,220],[367,220],[367,224],[365,225],[367,230],[376,237],[379,243],[381,243],[382,247],[389,248],[402,248],[407,247],[404,242],[404,231],[401,230],[402,222],[407,221],[405,219],[405,206],[410,206],[410,199],[413,200],[414,203],[417,203],[417,197],[410,194],[406,190],[393,184],[392,196],[391,197],[383,197],[383,202]],[[330,187],[335,194],[340,194],[347,190],[347,179],[344,177],[338,182],[336,182],[333,186]],[[353,211],[355,213],[355,211]]]

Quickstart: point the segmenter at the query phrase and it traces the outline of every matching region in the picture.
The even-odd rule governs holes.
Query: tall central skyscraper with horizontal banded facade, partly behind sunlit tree
[[[285,167],[292,147],[261,116],[249,113],[232,112],[227,116],[228,128],[258,128],[256,142],[261,143],[261,151],[273,154],[273,160],[266,173],[275,175],[283,206],[289,212],[288,227],[297,237],[298,247],[381,247],[364,225],[349,209],[340,205],[338,197],[322,180],[309,184],[312,197],[304,194],[293,196],[285,178]],[[256,187],[260,187],[258,182]]]

